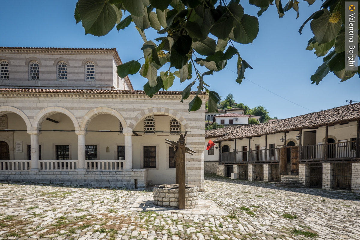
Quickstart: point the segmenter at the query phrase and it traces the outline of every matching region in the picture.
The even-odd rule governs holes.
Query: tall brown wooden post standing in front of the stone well
[[[179,138],[179,209],[185,209],[185,138],[180,135]]]

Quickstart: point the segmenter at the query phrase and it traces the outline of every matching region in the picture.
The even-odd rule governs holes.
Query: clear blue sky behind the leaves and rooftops
[[[320,9],[321,1],[308,6],[305,1],[299,3],[300,17],[289,10],[283,18],[278,17],[275,5],[259,17],[259,34],[253,44],[236,44],[240,55],[253,69],[246,69],[245,77],[288,99],[291,103],[273,93],[244,80],[241,85],[235,82],[236,61],[228,62],[226,69],[204,78],[224,99],[232,93],[237,103],[249,107],[263,105],[270,117],[288,118],[329,109],[347,104],[346,100],[360,100],[360,80],[358,75],[340,83],[329,73],[318,86],[311,85],[310,76],[322,63],[312,51],[305,50],[307,41],[313,36],[309,23],[302,35],[298,33],[301,24]],[[118,32],[113,29],[108,35],[96,37],[85,35],[81,23],[76,24],[73,17],[76,0],[64,1],[5,1],[2,0],[0,21],[1,46],[21,47],[116,47],[122,62],[139,59],[143,45],[134,23]],[[257,16],[258,8],[242,0],[245,13]],[[285,3],[284,3],[285,5]],[[155,30],[145,30],[148,40],[158,35]],[[215,39],[215,37],[214,37]],[[141,62],[141,61],[140,61]],[[143,63],[143,62],[141,62]],[[175,69],[174,69],[175,71]],[[234,72],[232,72],[234,71]],[[130,76],[135,90],[143,90],[147,80],[135,74]],[[169,90],[183,90],[188,81],[180,85],[175,81]],[[195,86],[193,87],[195,90]],[[304,108],[303,108],[304,107]],[[187,108],[187,106],[186,106]],[[306,109],[307,108],[307,109]],[[309,110],[310,109],[310,110]]]

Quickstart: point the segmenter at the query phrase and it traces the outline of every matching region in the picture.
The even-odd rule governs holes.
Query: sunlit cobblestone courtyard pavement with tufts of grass
[[[360,239],[360,194],[207,176],[222,213],[136,211],[151,191],[0,182],[0,240]]]

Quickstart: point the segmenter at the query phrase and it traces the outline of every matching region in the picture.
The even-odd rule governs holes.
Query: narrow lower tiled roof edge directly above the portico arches
[[[52,92],[52,93],[79,93],[79,94],[145,94],[141,90],[101,90],[101,89],[25,89],[25,88],[2,88],[0,92]],[[180,95],[181,91],[158,91],[158,95]],[[195,95],[196,92],[190,92]],[[206,95],[201,92],[200,95]]]

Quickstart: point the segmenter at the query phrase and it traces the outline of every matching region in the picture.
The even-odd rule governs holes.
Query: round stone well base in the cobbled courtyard
[[[163,185],[162,185],[163,186]],[[171,185],[170,185],[171,186]],[[161,207],[178,208],[179,207],[179,189],[174,187],[154,187],[155,205]],[[199,203],[199,188],[192,186],[185,188],[185,208],[197,208]]]

